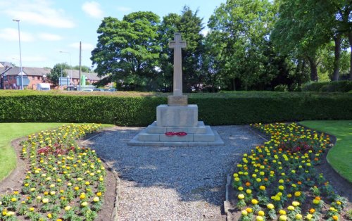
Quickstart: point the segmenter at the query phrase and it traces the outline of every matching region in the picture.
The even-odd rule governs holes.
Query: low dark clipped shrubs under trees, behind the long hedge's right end
[[[335,82],[314,82],[306,84],[303,91],[348,92],[352,90],[352,82],[341,80]]]

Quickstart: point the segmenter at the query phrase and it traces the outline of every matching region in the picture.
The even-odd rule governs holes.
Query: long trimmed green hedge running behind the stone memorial
[[[284,96],[287,94],[287,96]],[[101,122],[146,126],[156,120],[162,96],[0,96],[0,122]],[[352,96],[194,96],[199,120],[207,125],[239,125],[294,120],[351,120]]]

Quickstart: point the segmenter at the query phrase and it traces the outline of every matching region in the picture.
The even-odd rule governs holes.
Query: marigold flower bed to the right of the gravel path
[[[339,220],[346,198],[315,169],[329,136],[296,123],[251,126],[271,138],[234,172],[240,220]]]

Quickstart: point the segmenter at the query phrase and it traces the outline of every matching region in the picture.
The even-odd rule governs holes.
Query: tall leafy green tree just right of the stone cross
[[[208,26],[215,42],[213,50],[221,56],[220,75],[249,89],[274,77],[268,72],[268,36],[275,21],[275,5],[267,0],[227,0],[210,17]],[[239,83],[238,83],[239,82]]]

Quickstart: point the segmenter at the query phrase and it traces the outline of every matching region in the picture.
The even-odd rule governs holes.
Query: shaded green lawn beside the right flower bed
[[[352,182],[352,120],[317,120],[300,123],[337,137],[337,143],[327,154],[327,161],[341,176]]]

